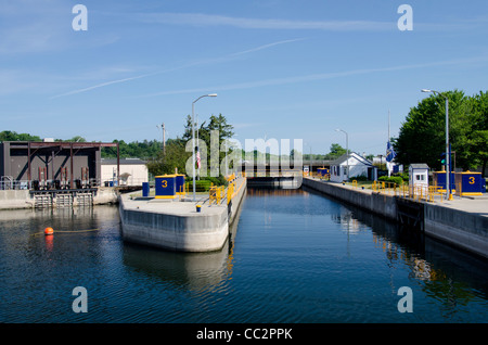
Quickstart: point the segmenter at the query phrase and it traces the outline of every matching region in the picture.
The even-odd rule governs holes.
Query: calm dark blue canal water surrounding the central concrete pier
[[[0,212],[0,322],[488,321],[487,261],[312,191],[249,189],[233,231],[181,254],[124,243],[115,206]]]

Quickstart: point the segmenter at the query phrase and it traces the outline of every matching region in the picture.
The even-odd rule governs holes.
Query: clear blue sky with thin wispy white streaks
[[[75,31],[75,4],[88,30]],[[400,4],[413,30],[399,30]],[[421,89],[486,91],[488,2],[0,0],[1,130],[127,142],[223,114],[235,139],[384,154]]]

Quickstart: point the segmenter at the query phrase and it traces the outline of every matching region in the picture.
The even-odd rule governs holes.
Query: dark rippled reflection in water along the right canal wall
[[[411,281],[427,297],[440,303],[441,314],[446,319],[455,320],[459,314],[468,312],[463,307],[471,302],[488,298],[488,263],[484,258],[358,207],[346,204],[343,206],[348,210],[333,214],[331,218],[348,234],[371,229],[374,247],[385,253],[388,266],[391,269],[407,267]]]

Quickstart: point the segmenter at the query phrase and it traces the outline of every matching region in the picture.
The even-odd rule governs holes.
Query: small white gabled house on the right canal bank
[[[364,176],[369,180],[377,179],[377,168],[373,163],[356,152],[349,152],[349,159],[347,154],[342,155],[331,163],[331,181],[342,182],[347,180],[347,168],[349,168],[349,179]]]

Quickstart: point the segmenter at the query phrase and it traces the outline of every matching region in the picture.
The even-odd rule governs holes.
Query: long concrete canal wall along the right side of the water
[[[304,178],[303,186],[394,221],[413,219],[425,234],[488,258],[486,199],[427,203],[312,178]]]

